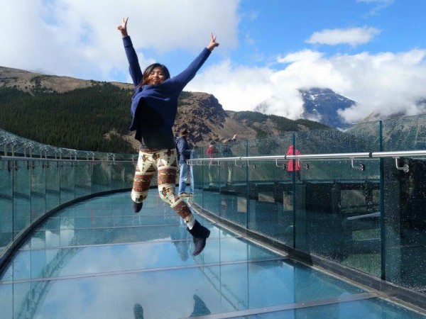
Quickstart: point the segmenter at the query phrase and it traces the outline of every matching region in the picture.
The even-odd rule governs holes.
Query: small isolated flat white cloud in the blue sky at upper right
[[[326,29],[315,32],[306,40],[311,44],[341,45],[349,44],[352,46],[361,45],[370,42],[374,35],[378,35],[380,30],[376,28],[346,28],[346,29]]]

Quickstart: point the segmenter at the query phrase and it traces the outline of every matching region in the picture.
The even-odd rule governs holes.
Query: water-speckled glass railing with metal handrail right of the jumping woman
[[[298,152],[285,156],[290,145]],[[426,116],[241,140],[226,155],[225,147],[214,159],[199,148],[190,161],[197,206],[426,293]]]

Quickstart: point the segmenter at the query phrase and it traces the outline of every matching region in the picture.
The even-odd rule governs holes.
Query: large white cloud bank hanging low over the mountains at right
[[[278,57],[285,63],[281,69],[248,68],[230,61],[204,67],[187,89],[214,94],[226,110],[253,111],[264,103],[266,113],[293,119],[303,111],[297,90],[312,87],[329,88],[356,101],[342,112],[349,123],[373,112],[416,115],[426,111],[416,106],[426,96],[425,57],[426,50],[332,57],[303,50]]]

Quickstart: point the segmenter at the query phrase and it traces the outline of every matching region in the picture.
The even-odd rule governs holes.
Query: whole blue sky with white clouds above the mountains
[[[213,94],[225,110],[300,118],[299,89],[356,101],[339,114],[426,113],[426,0],[0,0],[0,66],[129,82],[121,35],[141,69],[176,75],[220,44],[185,91]]]

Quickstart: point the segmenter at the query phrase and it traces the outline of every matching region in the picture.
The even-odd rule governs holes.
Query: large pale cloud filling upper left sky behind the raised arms
[[[4,1],[0,61],[18,69],[112,79],[111,74],[126,71],[127,65],[116,30],[122,17],[129,16],[135,47],[197,52],[207,45],[210,32],[220,35],[221,47],[236,45],[238,4],[239,0]],[[141,65],[152,62],[144,55],[139,59]]]

